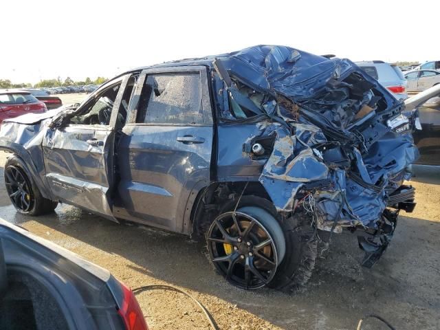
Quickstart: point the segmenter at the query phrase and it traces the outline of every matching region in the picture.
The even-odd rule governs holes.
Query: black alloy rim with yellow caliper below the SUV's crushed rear
[[[270,232],[250,214],[223,213],[208,231],[210,261],[236,287],[263,287],[274,278],[280,259]]]

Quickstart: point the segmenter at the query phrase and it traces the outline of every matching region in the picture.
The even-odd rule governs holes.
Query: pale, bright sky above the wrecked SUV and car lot
[[[439,12],[438,0],[3,0],[0,79],[111,78],[260,44],[352,61],[440,60]]]

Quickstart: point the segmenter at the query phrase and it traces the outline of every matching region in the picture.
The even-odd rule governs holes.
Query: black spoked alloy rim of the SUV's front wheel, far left
[[[17,166],[5,168],[5,186],[15,208],[24,213],[32,210],[35,202],[34,194],[30,182],[21,168]]]

